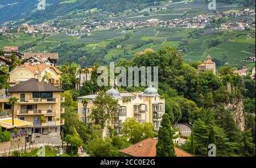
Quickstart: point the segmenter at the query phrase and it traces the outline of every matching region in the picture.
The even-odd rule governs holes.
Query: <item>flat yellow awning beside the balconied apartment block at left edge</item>
[[[28,121],[23,121],[19,119],[14,119],[14,125],[11,117],[0,119],[0,125],[3,128],[11,129],[11,128],[22,128],[22,127],[32,127],[32,123]]]

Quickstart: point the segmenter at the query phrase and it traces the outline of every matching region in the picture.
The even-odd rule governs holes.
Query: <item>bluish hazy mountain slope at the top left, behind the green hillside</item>
[[[0,9],[0,23],[7,20],[15,20],[24,18],[26,20],[33,20],[33,22],[45,22],[48,19],[56,18],[57,16],[65,15],[68,12],[81,9],[98,8],[109,12],[119,12],[127,9],[133,9],[143,3],[148,3],[160,0],[77,0],[66,1],[64,0],[46,0],[46,10],[35,10],[38,1],[31,0],[3,0],[1,5],[7,3],[15,3],[15,5],[3,6]],[[18,3],[17,3],[18,2]],[[60,3],[62,2],[62,3]],[[35,10],[35,12],[32,12]]]

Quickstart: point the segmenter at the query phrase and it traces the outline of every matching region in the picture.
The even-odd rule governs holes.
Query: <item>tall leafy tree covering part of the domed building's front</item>
[[[94,124],[100,124],[101,128],[104,129],[107,120],[108,125],[113,123],[114,115],[118,109],[118,100],[112,99],[105,91],[100,91],[93,103],[95,108],[92,109],[90,117],[94,121]]]

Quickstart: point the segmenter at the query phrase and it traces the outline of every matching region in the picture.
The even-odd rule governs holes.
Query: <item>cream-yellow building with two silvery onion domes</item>
[[[119,93],[119,91],[112,89],[106,91],[106,94],[112,96],[113,99],[118,100],[119,109],[115,115],[113,128],[115,131],[121,131],[121,124],[127,118],[134,118],[139,123],[150,122],[154,125],[155,131],[158,131],[162,115],[164,114],[164,98],[161,98],[156,90],[151,85],[142,93]],[[93,100],[97,95],[86,95],[78,97],[77,112],[81,121],[85,120],[85,111],[82,105],[82,99],[89,100],[86,116],[90,115],[94,107]],[[86,122],[89,122],[86,117]],[[104,129],[104,136],[108,135],[108,129]]]

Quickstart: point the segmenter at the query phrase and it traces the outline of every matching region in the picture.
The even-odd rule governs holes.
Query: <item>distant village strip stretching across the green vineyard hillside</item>
[[[109,30],[109,29],[118,29],[121,27],[126,27],[130,29],[142,28],[142,27],[179,27],[179,28],[205,28],[212,27],[212,20],[219,18],[227,18],[227,17],[237,17],[237,16],[251,16],[250,20],[239,20],[240,22],[236,23],[221,23],[219,27],[213,27],[221,30],[245,30],[245,28],[250,28],[255,30],[255,10],[253,9],[244,9],[239,12],[226,12],[226,13],[208,13],[208,14],[198,14],[193,16],[192,18],[181,18],[181,19],[172,19],[172,20],[159,20],[159,19],[149,19],[146,21],[124,21],[119,20],[118,22],[114,22],[112,20],[102,20],[101,22],[97,22],[97,19],[84,20],[80,26],[76,26],[75,28],[79,28],[79,30],[74,30],[72,28],[60,27],[58,24],[60,22],[76,22],[76,18],[74,19],[65,19],[59,20],[59,23],[56,26],[52,26],[50,23],[42,23],[35,24],[32,26],[28,26],[28,24],[22,24],[18,27],[19,31],[24,31],[26,33],[45,33],[46,35],[56,35],[57,33],[67,33],[69,36],[82,36],[82,35],[90,35],[90,32],[97,30]],[[9,28],[0,27],[0,32],[3,33],[3,36],[11,36],[11,33],[8,33]]]

